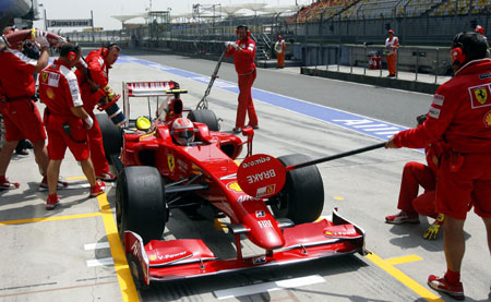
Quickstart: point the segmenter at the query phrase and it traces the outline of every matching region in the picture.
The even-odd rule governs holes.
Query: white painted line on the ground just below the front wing
[[[274,282],[265,282],[260,285],[247,286],[247,287],[238,287],[231,289],[224,290],[215,290],[215,297],[219,300],[237,298],[242,295],[251,295],[261,292],[271,292],[276,290],[289,289],[289,288],[299,288],[315,283],[325,282],[324,278],[320,275],[312,275],[307,277],[294,278],[288,280],[280,280]]]

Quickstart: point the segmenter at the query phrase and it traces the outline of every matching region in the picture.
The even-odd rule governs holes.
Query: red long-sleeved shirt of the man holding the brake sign
[[[395,135],[396,146],[422,148],[443,138],[459,153],[491,153],[491,60],[469,62],[441,85],[421,126]]]

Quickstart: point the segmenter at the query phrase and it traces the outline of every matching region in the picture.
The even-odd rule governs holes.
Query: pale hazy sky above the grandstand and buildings
[[[221,4],[233,5],[244,2],[267,3],[267,7],[275,5],[295,5],[311,3],[311,0],[37,0],[43,3],[48,20],[60,19],[91,19],[91,10],[94,12],[94,26],[104,27],[104,29],[121,29],[121,22],[111,17],[111,15],[129,15],[144,13],[152,3],[152,11],[167,11],[170,8],[170,14],[191,13],[193,4],[205,5]],[[43,8],[39,8],[43,17]],[[44,27],[44,21],[35,21],[34,26]],[[143,19],[131,20],[130,23],[143,23]],[[72,28],[62,28],[68,31]]]

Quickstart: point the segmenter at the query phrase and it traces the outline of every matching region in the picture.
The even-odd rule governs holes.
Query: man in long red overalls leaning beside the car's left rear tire
[[[99,100],[107,95],[109,100],[116,97],[116,94],[109,87],[109,69],[118,60],[120,47],[117,44],[109,44],[100,49],[88,53],[87,68],[88,76],[76,70],[75,74],[84,101],[84,109],[94,120],[94,126],[88,130],[88,145],[91,146],[91,158],[94,162],[95,173],[98,179],[104,181],[115,181],[116,177],[109,171],[109,164],[103,146],[103,133],[94,114],[94,108]]]

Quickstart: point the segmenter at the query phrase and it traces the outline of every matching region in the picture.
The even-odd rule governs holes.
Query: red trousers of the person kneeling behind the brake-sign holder
[[[418,196],[419,186],[424,193]],[[416,161],[404,166],[397,208],[436,218],[434,210],[436,178],[430,167]]]

